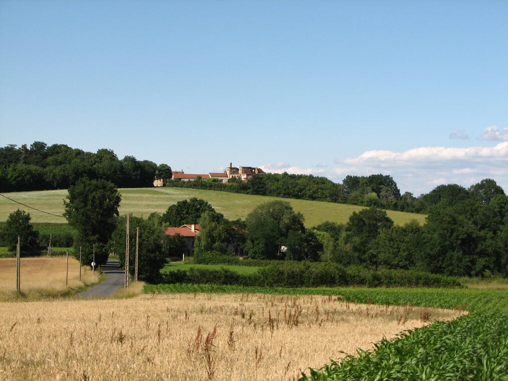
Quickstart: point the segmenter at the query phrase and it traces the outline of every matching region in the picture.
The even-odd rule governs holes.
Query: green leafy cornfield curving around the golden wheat
[[[419,305],[468,310],[452,322],[436,322],[383,338],[355,353],[302,373],[301,381],[508,379],[508,293],[479,289],[282,289],[215,285],[148,285],[145,292],[264,292],[336,295],[377,305]],[[359,345],[362,347],[361,345]]]

